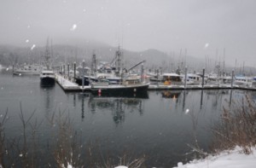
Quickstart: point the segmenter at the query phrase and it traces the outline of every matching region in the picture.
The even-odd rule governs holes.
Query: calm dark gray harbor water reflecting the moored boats
[[[39,77],[17,77],[0,72],[0,113],[8,111],[5,125],[7,140],[22,136],[20,107],[26,119],[40,126],[40,159],[47,165],[53,153],[50,144],[53,113],[65,112],[79,132],[79,142],[98,144],[102,159],[145,154],[148,167],[172,167],[194,157],[189,145],[207,151],[211,143],[210,125],[218,121],[230,100],[239,101],[253,92],[233,90],[148,91],[146,96],[96,97],[88,93],[65,93],[58,84],[41,88]],[[230,99],[231,98],[231,99]],[[57,131],[57,130],[54,130]],[[54,132],[55,134],[56,132]],[[83,153],[83,152],[82,152]]]

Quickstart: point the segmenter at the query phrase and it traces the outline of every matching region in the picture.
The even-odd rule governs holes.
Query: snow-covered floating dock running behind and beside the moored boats
[[[79,86],[79,84],[65,78],[59,74],[56,74],[56,82],[59,84],[64,91],[90,91],[90,86]],[[148,90],[252,90],[256,91],[256,88],[252,87],[241,87],[238,85],[231,84],[205,84],[205,85],[164,85],[155,84],[149,85]]]

